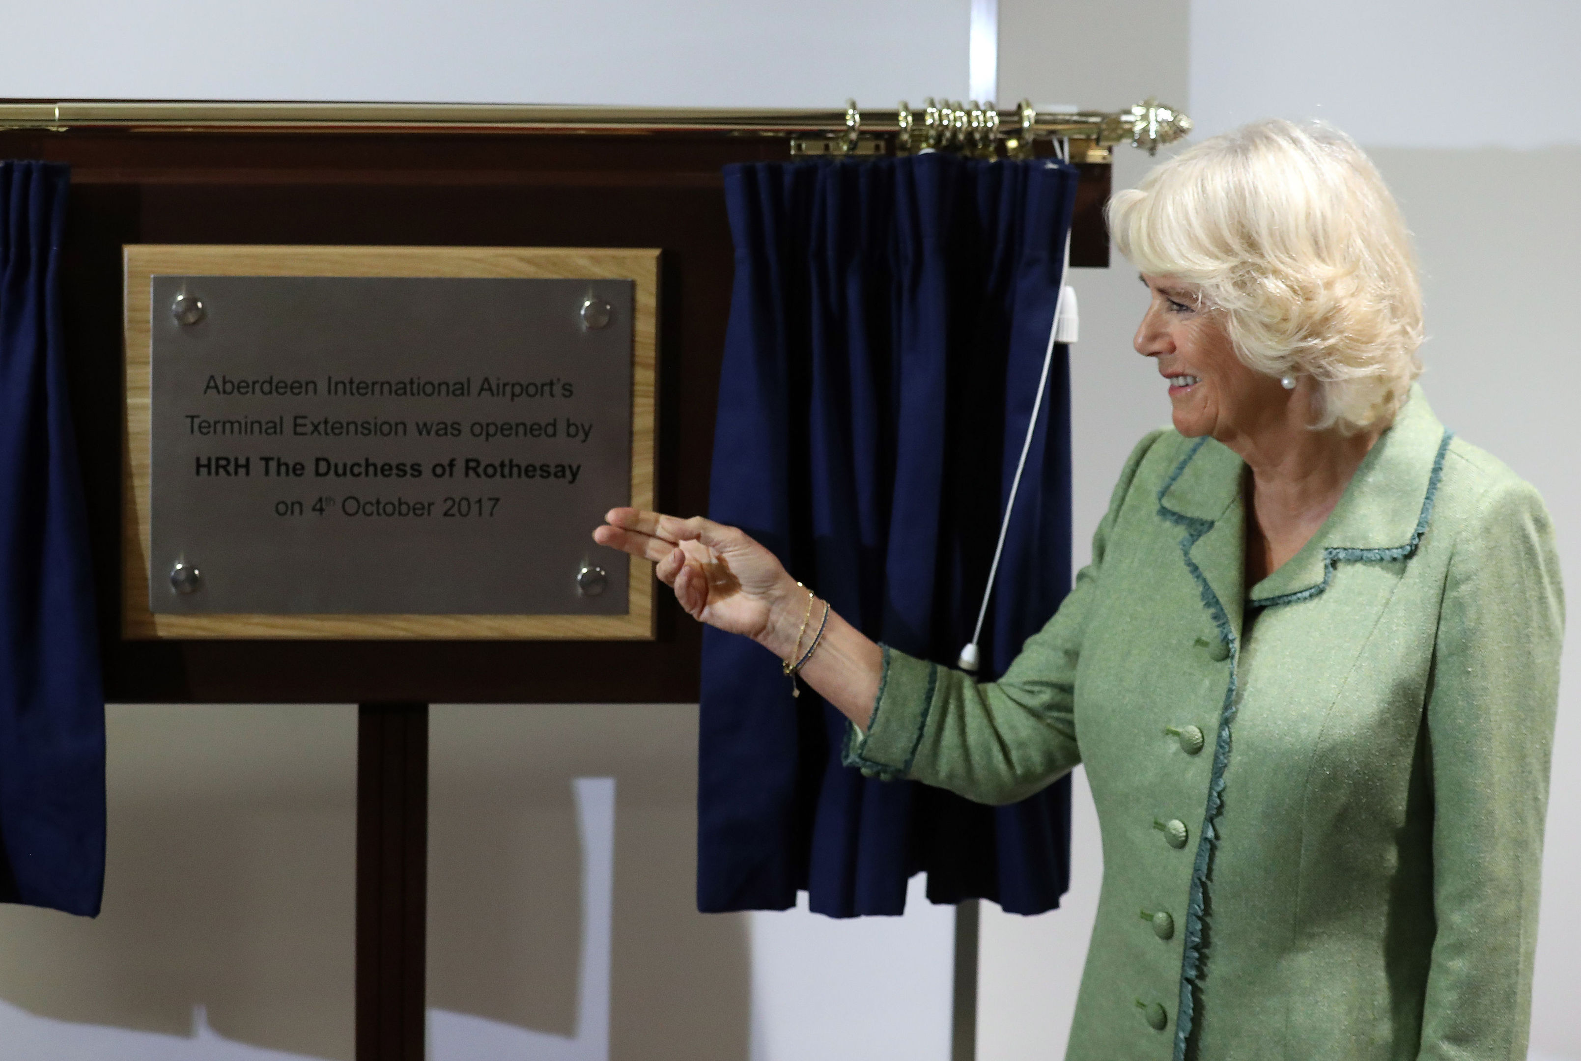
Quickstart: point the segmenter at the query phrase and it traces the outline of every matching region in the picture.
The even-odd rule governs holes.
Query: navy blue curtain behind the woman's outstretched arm
[[[955,663],[1037,397],[1075,169],[928,153],[726,168],[735,289],[710,517],[870,637]],[[1070,413],[1056,348],[982,640],[1009,666],[1070,587]],[[843,716],[779,661],[704,634],[697,904],[833,917],[928,898],[1032,914],[1069,881],[1070,789],[1006,808],[865,778]]]

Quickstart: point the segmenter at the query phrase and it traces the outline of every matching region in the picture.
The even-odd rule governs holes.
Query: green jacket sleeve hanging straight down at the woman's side
[[[1439,612],[1423,1061],[1526,1058],[1562,640],[1548,512],[1530,485],[1505,481],[1455,542]]]

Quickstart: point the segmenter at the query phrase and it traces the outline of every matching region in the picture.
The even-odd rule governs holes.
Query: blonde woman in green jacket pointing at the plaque
[[[993,683],[876,645],[741,531],[615,509],[696,618],[982,802],[1086,765],[1104,889],[1069,1058],[1524,1058],[1564,604],[1548,514],[1445,432],[1383,182],[1265,122],[1110,204],[1173,430]]]

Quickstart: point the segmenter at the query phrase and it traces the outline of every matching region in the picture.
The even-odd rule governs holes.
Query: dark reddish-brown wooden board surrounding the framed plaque
[[[122,245],[664,248],[658,500],[692,514],[708,501],[734,270],[721,168],[784,161],[784,139],[71,130],[0,133],[0,158],[73,166],[62,281],[111,700],[697,699],[700,632],[662,593],[653,642],[123,640]],[[1105,266],[1110,168],[1081,171],[1072,264]]]

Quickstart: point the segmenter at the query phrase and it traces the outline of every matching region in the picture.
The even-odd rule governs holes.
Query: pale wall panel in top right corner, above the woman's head
[[[1194,0],[1190,106],[1205,136],[1325,119],[1368,147],[1581,142],[1570,0]]]

